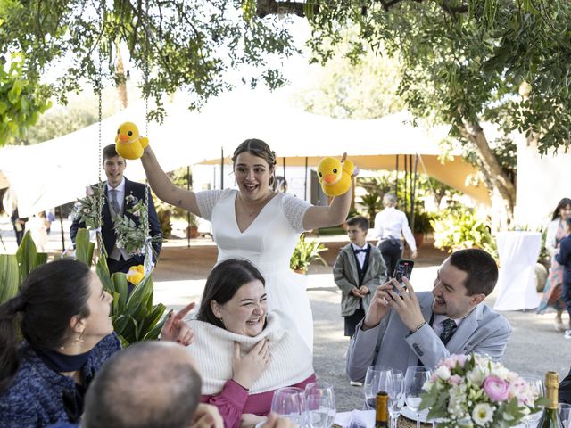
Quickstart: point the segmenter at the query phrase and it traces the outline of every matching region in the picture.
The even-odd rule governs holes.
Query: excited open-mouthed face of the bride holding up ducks
[[[236,157],[234,174],[244,199],[256,201],[267,197],[273,169],[266,160],[250,152],[240,153]]]

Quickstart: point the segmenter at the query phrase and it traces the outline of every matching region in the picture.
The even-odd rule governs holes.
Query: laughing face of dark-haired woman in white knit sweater
[[[253,280],[242,285],[223,305],[211,300],[211,309],[228,332],[257,336],[266,324],[266,290],[261,281]]]

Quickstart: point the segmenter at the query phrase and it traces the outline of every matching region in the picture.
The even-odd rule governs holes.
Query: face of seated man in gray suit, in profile
[[[468,274],[451,264],[446,259],[438,269],[434,280],[432,293],[434,300],[432,310],[434,314],[446,315],[451,318],[461,318],[476,307],[485,298],[485,294],[467,295],[464,282]]]

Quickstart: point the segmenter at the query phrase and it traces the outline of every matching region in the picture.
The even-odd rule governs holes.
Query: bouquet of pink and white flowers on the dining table
[[[514,426],[545,404],[519,375],[478,354],[443,358],[425,390],[419,408],[429,409],[439,427]]]

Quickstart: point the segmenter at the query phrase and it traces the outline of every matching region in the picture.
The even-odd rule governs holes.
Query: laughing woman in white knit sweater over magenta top
[[[274,391],[315,382],[311,351],[285,313],[267,313],[265,281],[245,259],[227,259],[206,280],[188,350],[201,368],[201,401],[227,427],[255,425]]]

